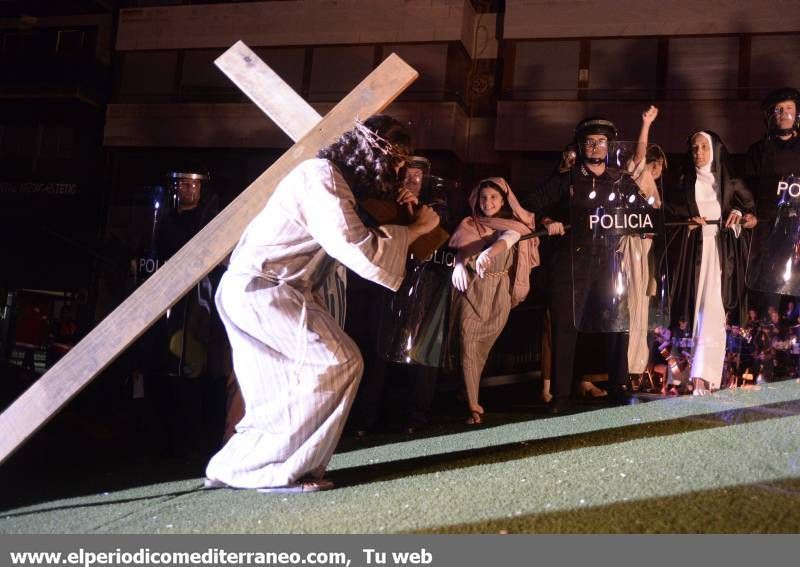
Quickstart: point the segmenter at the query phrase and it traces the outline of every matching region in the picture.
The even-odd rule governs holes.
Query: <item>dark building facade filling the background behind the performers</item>
[[[130,292],[131,260],[149,238],[151,191],[168,170],[187,159],[203,163],[225,204],[289,147],[214,67],[235,41],[255,49],[321,114],[398,53],[420,78],[389,112],[411,123],[432,172],[464,188],[503,175],[524,193],[553,169],[579,119],[608,116],[623,138],[635,139],[651,103],[661,109],[651,138],[671,158],[701,127],[742,154],[762,132],[763,94],[800,85],[800,7],[781,0],[730,7],[0,2],[3,402],[58,356],[52,343],[77,340]],[[535,311],[534,295],[511,327],[530,333]],[[38,326],[21,328],[31,313]],[[76,330],[60,337],[70,319]],[[538,367],[536,340],[522,351],[507,340],[490,374]],[[12,371],[25,366],[28,377],[9,386]]]

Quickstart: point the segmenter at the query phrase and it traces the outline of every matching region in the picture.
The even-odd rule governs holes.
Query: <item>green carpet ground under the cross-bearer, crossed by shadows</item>
[[[339,488],[316,494],[200,478],[106,491],[98,475],[94,494],[4,509],[0,533],[800,531],[798,381],[582,409],[347,440]]]

